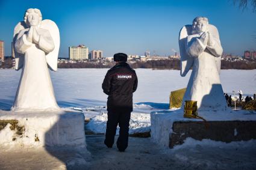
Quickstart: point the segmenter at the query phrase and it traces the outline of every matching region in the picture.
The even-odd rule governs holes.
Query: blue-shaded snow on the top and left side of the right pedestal
[[[201,111],[198,115],[207,121],[252,121],[256,112],[251,111]],[[151,112],[151,138],[160,146],[169,147],[170,133],[175,121],[202,121],[201,119],[183,118],[183,110]],[[236,132],[234,132],[236,133]]]

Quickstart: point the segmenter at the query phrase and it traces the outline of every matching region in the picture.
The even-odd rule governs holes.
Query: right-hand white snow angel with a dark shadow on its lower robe
[[[206,17],[196,17],[193,25],[186,25],[180,31],[181,76],[192,74],[183,97],[196,100],[198,109],[225,110],[226,101],[220,84],[220,56],[222,46],[217,28],[208,23]]]

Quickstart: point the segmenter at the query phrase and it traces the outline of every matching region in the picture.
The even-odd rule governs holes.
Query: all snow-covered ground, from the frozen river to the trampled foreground
[[[64,111],[83,112],[90,123],[86,128],[104,133],[107,121],[107,96],[101,83],[107,69],[59,69],[51,72],[58,105]],[[190,73],[180,76],[177,70],[136,69],[139,86],[134,93],[134,111],[130,133],[148,132],[151,112],[171,112],[170,91],[187,86]],[[242,90],[244,96],[256,93],[256,70],[222,70],[223,91],[233,94]],[[0,112],[13,103],[20,71],[0,70]],[[2,111],[4,112],[4,111]],[[214,115],[213,115],[214,116]],[[245,115],[249,117],[249,115]],[[170,127],[170,126],[169,126]],[[164,131],[166,132],[166,131]],[[117,130],[118,133],[118,130]],[[234,132],[236,133],[236,132]],[[168,137],[168,136],[167,136]],[[2,150],[0,169],[255,169],[255,140],[246,142],[195,141],[187,138],[173,150],[161,148],[149,138],[130,138],[125,154],[104,146],[104,136],[86,138],[87,150]]]

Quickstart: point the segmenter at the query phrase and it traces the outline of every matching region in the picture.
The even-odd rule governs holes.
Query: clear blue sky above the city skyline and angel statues
[[[217,26],[225,53],[243,55],[244,50],[256,50],[256,13],[251,8],[240,10],[232,0],[0,0],[5,56],[11,54],[14,26],[28,8],[39,8],[43,19],[57,23],[60,57],[68,57],[68,47],[78,44],[103,50],[104,56],[117,52],[143,55],[146,50],[172,55],[172,49],[179,49],[180,29],[196,16],[208,17]]]

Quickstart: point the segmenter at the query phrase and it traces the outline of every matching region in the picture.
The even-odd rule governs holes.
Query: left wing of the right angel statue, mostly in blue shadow
[[[192,34],[192,25],[185,25],[181,28],[179,35],[179,46],[180,46],[180,55],[181,55],[181,76],[186,76],[187,72],[189,72],[190,68],[193,65],[194,59],[190,57],[186,52],[186,38],[187,35]]]

